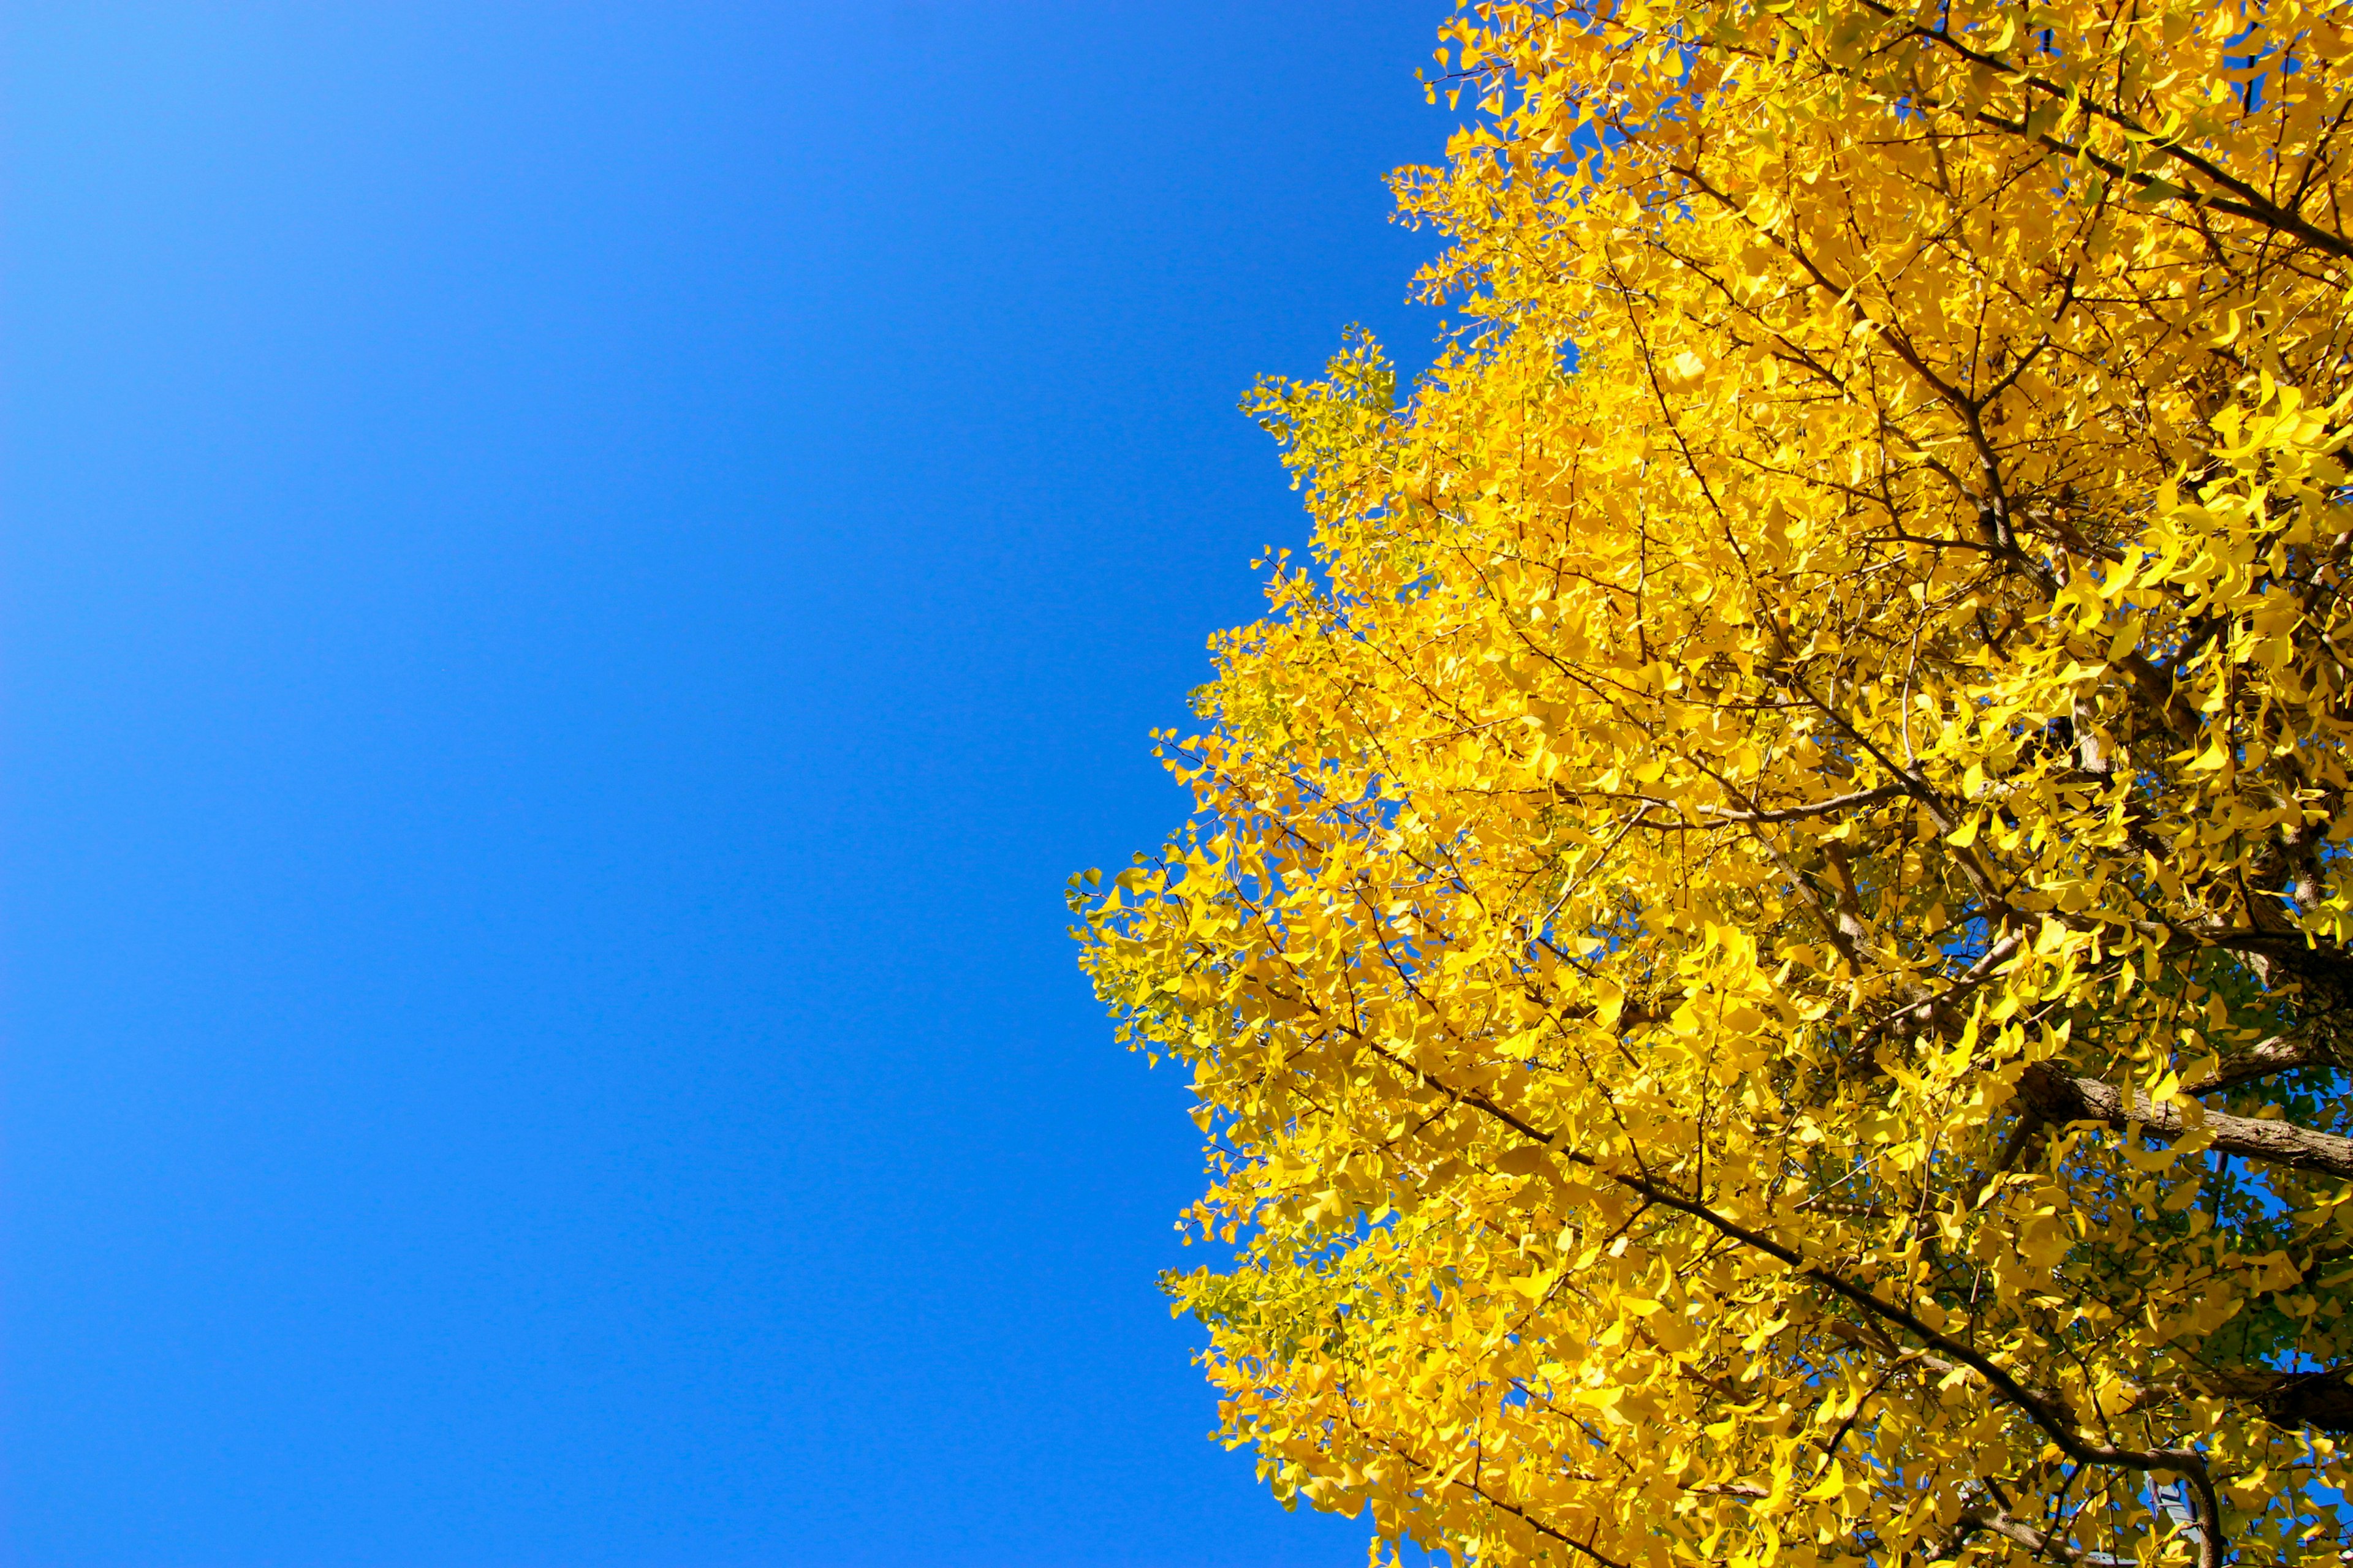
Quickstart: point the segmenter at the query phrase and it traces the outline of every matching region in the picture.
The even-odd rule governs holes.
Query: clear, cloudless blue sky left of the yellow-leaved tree
[[[7,1563],[1362,1561],[1061,884],[1445,9],[7,9]]]

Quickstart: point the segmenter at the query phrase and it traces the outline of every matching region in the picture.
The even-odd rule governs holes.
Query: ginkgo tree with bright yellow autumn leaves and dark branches
[[[1224,1436],[1482,1563],[2334,1556],[2346,5],[1478,5],[1082,884]]]

